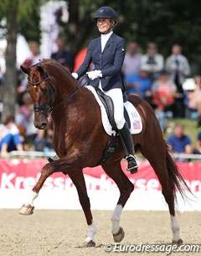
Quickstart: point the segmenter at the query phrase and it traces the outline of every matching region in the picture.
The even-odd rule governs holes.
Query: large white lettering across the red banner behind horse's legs
[[[31,189],[39,180],[40,173],[33,176],[18,176],[16,173],[2,173],[0,176],[0,189]],[[140,191],[160,191],[160,183],[157,179],[130,179],[135,185],[136,190]],[[111,180],[106,174],[101,174],[100,177],[85,175],[85,183],[88,191],[114,191],[116,183]],[[186,180],[187,185],[192,192],[201,191],[201,180]],[[69,190],[74,187],[72,180],[67,175],[65,177],[51,176],[44,182],[42,189],[49,190]]]

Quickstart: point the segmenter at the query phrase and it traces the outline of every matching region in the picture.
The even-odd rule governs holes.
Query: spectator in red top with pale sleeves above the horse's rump
[[[161,72],[160,78],[152,83],[152,101],[156,106],[155,112],[161,125],[162,132],[165,130],[167,112],[172,111],[172,105],[177,87],[168,78],[167,71]]]

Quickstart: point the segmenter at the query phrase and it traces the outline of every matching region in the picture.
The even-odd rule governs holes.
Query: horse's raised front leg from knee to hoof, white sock
[[[51,168],[50,164],[44,165],[41,170],[41,175],[38,182],[33,187],[33,189],[28,193],[26,201],[23,203],[23,206],[19,210],[19,214],[22,215],[31,215],[34,210],[34,200],[39,196],[39,191],[44,185],[44,181],[54,173],[54,169]]]

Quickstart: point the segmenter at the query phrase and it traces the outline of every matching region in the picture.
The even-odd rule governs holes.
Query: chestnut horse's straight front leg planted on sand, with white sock
[[[94,247],[94,237],[96,232],[95,223],[90,211],[90,199],[87,195],[86,186],[85,186],[85,177],[82,170],[72,170],[68,172],[70,179],[73,181],[80,200],[80,205],[85,213],[85,219],[87,222],[87,235],[85,238],[85,247]]]

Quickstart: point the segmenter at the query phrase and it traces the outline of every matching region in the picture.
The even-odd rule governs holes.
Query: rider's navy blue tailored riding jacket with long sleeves
[[[90,80],[90,86],[101,86],[104,91],[113,88],[121,88],[124,91],[124,85],[121,80],[121,67],[125,58],[126,40],[112,33],[107,40],[105,49],[101,52],[101,37],[93,39],[87,48],[85,60],[80,68],[75,71],[79,78],[83,76],[90,67],[91,62],[95,65],[95,70],[101,71],[102,77]]]

